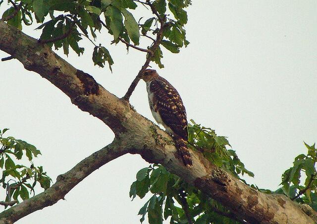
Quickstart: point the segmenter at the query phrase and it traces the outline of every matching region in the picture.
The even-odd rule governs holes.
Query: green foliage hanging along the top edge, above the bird
[[[11,4],[9,0],[7,2]],[[40,23],[37,28],[42,30],[40,43],[54,46],[55,49],[63,48],[65,55],[69,54],[69,47],[78,56],[83,54],[85,49],[78,43],[88,38],[94,45],[94,64],[104,67],[107,62],[110,70],[113,59],[105,45],[124,40],[128,43],[127,47],[136,46],[141,38],[148,38],[153,42],[146,49],[153,51],[153,55],[148,53],[147,57],[163,67],[160,45],[172,53],[178,53],[179,48],[189,44],[184,29],[187,23],[184,9],[190,4],[190,0],[16,0],[15,5],[5,10],[2,18],[14,15],[7,23],[20,30],[22,24]],[[136,19],[132,11],[138,6],[145,6],[151,13]],[[162,35],[159,35],[160,28]],[[105,29],[113,40],[110,43],[96,43],[98,33]],[[102,41],[105,39],[103,36]],[[154,47],[156,40],[159,46]]]

